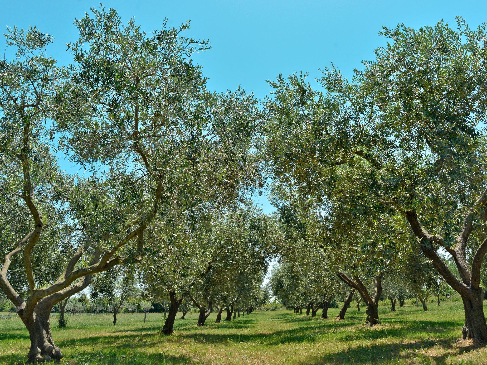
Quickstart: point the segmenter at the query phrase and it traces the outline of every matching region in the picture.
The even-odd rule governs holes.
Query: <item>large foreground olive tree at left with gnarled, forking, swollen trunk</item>
[[[0,59],[0,289],[29,331],[29,362],[62,358],[51,310],[95,274],[170,256],[152,237],[194,241],[207,212],[265,183],[259,103],[206,89],[191,55],[208,45],[182,35],[187,23],[146,34],[101,8],[75,27],[70,65],[35,27],[9,28]]]

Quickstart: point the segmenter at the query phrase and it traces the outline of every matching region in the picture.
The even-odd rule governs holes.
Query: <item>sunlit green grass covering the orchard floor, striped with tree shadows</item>
[[[364,325],[365,311],[352,307],[344,321],[308,317],[290,310],[254,312],[232,322],[195,326],[197,315],[177,319],[172,336],[158,333],[162,316],[120,314],[70,317],[53,326],[63,363],[106,364],[487,364],[487,348],[456,343],[463,325],[460,302],[430,303],[430,310],[380,307],[382,325]],[[320,314],[320,313],[319,313]],[[52,316],[53,325],[56,314]],[[23,364],[29,347],[19,319],[0,319],[0,364]]]

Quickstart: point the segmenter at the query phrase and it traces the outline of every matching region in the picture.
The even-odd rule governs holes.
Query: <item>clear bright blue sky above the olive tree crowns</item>
[[[6,1],[0,0],[0,28],[37,25],[51,33],[55,43],[50,54],[69,63],[65,44],[76,39],[73,26],[97,1]],[[398,23],[418,28],[455,16],[472,27],[487,21],[487,1],[352,1],[352,0],[228,0],[228,1],[104,1],[122,20],[135,17],[142,30],[160,28],[164,18],[170,26],[191,19],[187,35],[210,40],[213,49],[196,56],[215,91],[242,85],[262,98],[271,90],[266,80],[279,73],[306,71],[311,78],[333,62],[351,75],[360,62],[371,59],[385,43],[377,33],[383,25]],[[265,212],[272,206],[262,198]]]

